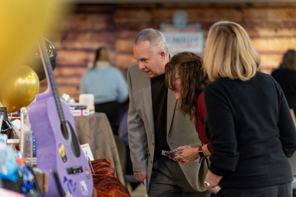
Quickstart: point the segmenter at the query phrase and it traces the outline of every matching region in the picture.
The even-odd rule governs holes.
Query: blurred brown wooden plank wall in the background
[[[58,54],[54,75],[59,93],[78,101],[81,76],[100,46],[110,48],[114,65],[126,76],[127,68],[135,63],[136,35],[146,28],[160,29],[161,22],[172,24],[177,9],[187,12],[188,24],[201,24],[205,39],[216,21],[225,19],[242,25],[260,54],[262,72],[270,74],[285,51],[296,49],[296,3],[77,4],[59,21],[60,31],[49,38]],[[43,81],[40,92],[45,89]]]

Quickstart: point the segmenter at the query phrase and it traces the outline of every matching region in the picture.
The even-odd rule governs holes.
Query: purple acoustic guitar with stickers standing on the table
[[[44,41],[38,46],[43,54],[41,59],[48,87],[36,95],[36,102],[29,105],[28,114],[38,147],[37,167],[49,173],[45,196],[70,193],[74,197],[90,197],[93,193],[91,169],[77,140],[74,118],[67,102],[59,97]]]

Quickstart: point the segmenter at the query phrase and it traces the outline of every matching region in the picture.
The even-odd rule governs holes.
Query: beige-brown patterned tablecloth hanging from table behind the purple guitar
[[[115,177],[125,185],[114,135],[106,114],[95,112],[90,116],[74,116],[74,121],[80,144],[89,143],[94,159],[110,159]]]

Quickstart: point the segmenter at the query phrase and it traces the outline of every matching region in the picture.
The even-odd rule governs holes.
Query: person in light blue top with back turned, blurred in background
[[[94,64],[81,78],[80,94],[94,94],[95,111],[106,113],[113,133],[118,134],[121,103],[128,99],[128,87],[120,70],[112,65],[107,47],[97,49]]]

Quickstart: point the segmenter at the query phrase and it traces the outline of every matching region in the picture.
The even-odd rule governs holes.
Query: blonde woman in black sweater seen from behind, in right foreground
[[[292,196],[287,157],[296,129],[279,84],[237,23],[216,22],[204,54],[205,135],[212,145],[204,185],[217,196]]]

